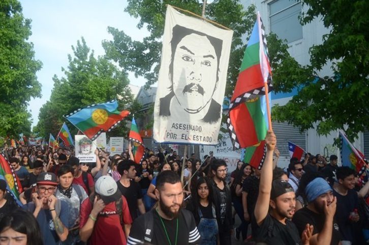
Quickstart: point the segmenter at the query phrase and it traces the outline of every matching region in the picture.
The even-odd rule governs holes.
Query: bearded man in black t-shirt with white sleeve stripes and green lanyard
[[[194,245],[200,240],[194,216],[182,209],[183,189],[178,174],[163,171],[157,177],[155,196],[159,205],[133,223],[128,245]]]

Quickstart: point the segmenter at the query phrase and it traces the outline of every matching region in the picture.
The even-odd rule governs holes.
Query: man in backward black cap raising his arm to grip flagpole
[[[309,244],[313,227],[306,225],[302,239],[290,221],[295,213],[295,193],[287,181],[273,178],[275,134],[268,131],[265,138],[267,152],[261,170],[259,196],[252,218],[253,237],[267,244]],[[269,211],[270,210],[270,211]]]

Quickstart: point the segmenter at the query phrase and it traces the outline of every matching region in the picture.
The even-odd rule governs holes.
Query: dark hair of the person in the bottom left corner
[[[8,228],[27,235],[27,245],[43,245],[40,226],[34,215],[23,209],[16,209],[3,217],[0,222],[0,233]]]

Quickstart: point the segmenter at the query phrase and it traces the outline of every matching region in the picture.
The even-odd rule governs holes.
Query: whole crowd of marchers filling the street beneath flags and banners
[[[0,245],[367,244],[369,182],[335,155],[281,169],[273,132],[265,140],[262,168],[239,160],[230,176],[212,154],[146,148],[136,163],[131,149],[96,150],[80,162],[72,148],[4,148],[23,205],[0,179]]]

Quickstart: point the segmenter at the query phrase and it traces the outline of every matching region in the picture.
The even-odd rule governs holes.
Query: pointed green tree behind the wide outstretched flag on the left
[[[55,136],[66,121],[63,116],[80,107],[107,102],[117,95],[121,98],[118,102],[120,110],[127,110],[128,104],[132,103],[126,72],[105,57],[96,59],[83,38],[77,41],[77,46],[72,46],[72,50],[73,56],[68,56],[68,69],[62,68],[65,76],[58,78],[54,75],[52,78],[54,88],[50,100],[41,107],[39,122],[34,128],[44,137],[49,133]],[[72,134],[77,132],[74,126],[68,126]],[[115,132],[121,130],[127,131],[124,124]]]

